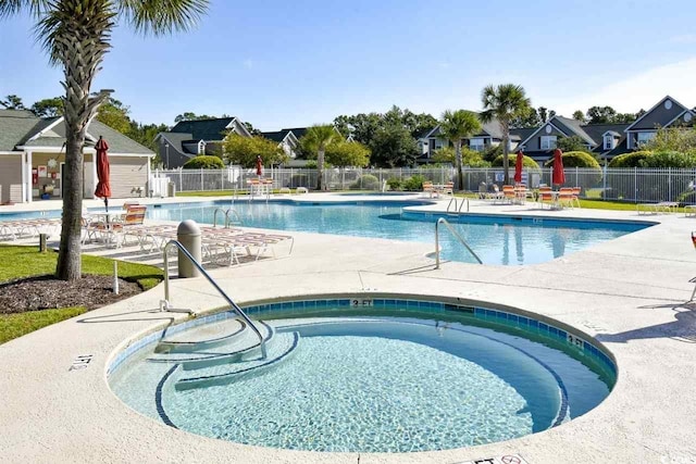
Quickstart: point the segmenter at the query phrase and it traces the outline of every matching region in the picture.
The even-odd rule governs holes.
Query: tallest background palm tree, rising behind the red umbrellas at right
[[[502,133],[502,170],[505,171],[505,184],[510,183],[510,122],[515,117],[524,117],[531,110],[531,101],[524,93],[522,86],[514,84],[501,84],[498,87],[486,86],[481,92],[484,111],[480,114],[481,121],[489,123],[494,120],[500,124]]]

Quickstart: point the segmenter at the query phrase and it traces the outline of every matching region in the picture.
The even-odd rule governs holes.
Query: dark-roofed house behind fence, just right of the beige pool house
[[[181,121],[167,133],[154,138],[164,168],[181,167],[199,154],[222,154],[222,141],[229,134],[251,137],[247,126],[237,117]]]

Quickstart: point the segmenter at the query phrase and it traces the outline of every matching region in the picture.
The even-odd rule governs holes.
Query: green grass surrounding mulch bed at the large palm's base
[[[39,253],[37,247],[0,246],[0,283],[24,277],[41,276],[55,272],[58,253]],[[112,275],[113,260],[83,254],[83,273]],[[158,285],[162,269],[145,264],[119,262],[119,277],[136,283],[148,290]],[[0,314],[0,343],[21,337],[41,327],[83,314],[85,308],[30,311],[20,314]]]

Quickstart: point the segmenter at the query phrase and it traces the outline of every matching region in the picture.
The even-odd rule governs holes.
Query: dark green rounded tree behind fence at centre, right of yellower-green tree
[[[418,143],[400,124],[388,124],[374,135],[371,163],[381,167],[412,166],[418,158]]]

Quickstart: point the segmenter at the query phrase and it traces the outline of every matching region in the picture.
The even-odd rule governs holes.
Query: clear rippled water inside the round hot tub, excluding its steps
[[[273,342],[296,339],[288,355],[258,373],[179,389],[182,378],[211,378],[229,366],[148,362],[149,346],[110,385],[129,406],[194,434],[332,452],[509,440],[585,414],[610,390],[605,375],[520,331],[407,316],[266,322],[276,330],[270,358],[278,351]]]

